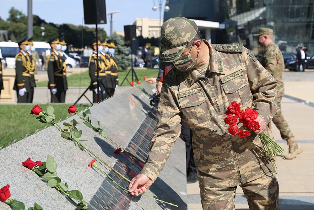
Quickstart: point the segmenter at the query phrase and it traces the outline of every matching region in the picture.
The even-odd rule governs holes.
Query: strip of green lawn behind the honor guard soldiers
[[[121,70],[118,72],[119,86],[127,75],[128,70]],[[143,77],[157,77],[159,69],[146,69],[146,68],[135,68],[134,69],[138,80],[143,82]],[[134,76],[135,77],[135,76]],[[127,76],[128,81],[132,81],[132,71]],[[135,78],[134,78],[135,80]],[[90,77],[88,71],[82,72],[82,74],[71,74],[67,77],[69,87],[88,87],[90,84]],[[123,82],[122,86],[130,86],[127,80]],[[36,82],[37,87],[47,87],[47,81]]]

